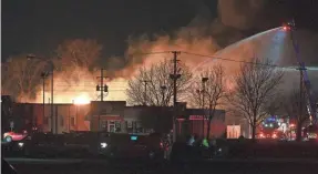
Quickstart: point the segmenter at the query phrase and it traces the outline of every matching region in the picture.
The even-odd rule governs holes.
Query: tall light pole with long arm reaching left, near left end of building
[[[58,124],[55,123],[54,124],[54,89],[53,89],[53,86],[54,86],[54,75],[53,75],[53,73],[54,73],[54,64],[53,64],[53,62],[52,62],[52,60],[51,59],[42,59],[42,58],[39,58],[39,57],[35,57],[35,55],[27,55],[27,58],[28,58],[28,60],[40,60],[40,61],[44,61],[45,63],[49,63],[50,65],[51,65],[51,132],[52,133],[54,133],[54,125],[55,125],[55,131],[57,131],[57,133],[58,133]]]

